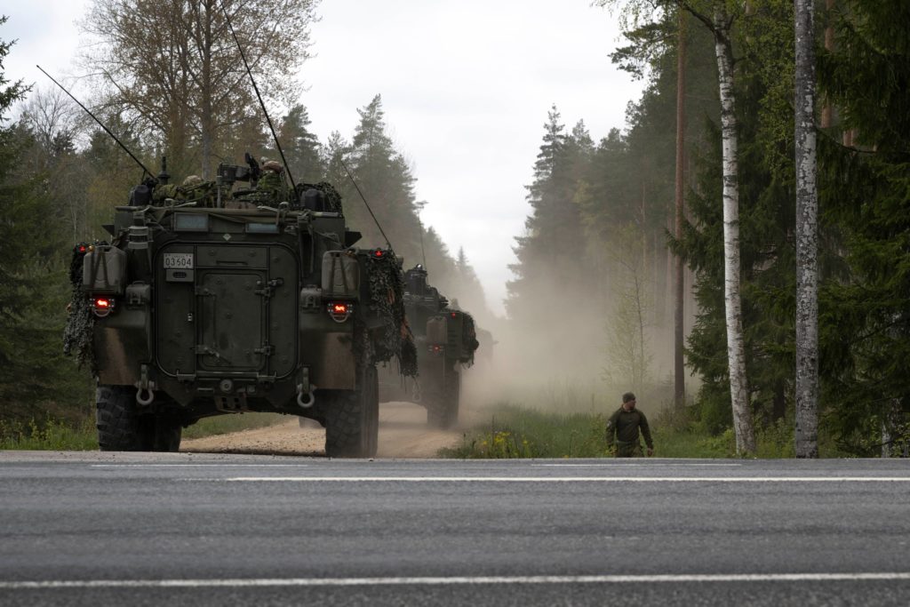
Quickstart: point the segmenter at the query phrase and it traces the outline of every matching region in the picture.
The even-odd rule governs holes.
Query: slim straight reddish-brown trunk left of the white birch
[[[679,27],[676,51],[676,184],[674,236],[682,239],[682,163],[685,143],[685,11],[679,10]],[[684,334],[682,332],[682,256],[674,264],[675,306],[673,308],[673,402],[677,407],[685,404],[685,363],[682,359]]]

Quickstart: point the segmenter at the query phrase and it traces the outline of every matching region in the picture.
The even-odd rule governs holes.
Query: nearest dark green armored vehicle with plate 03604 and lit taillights
[[[74,250],[66,347],[97,377],[102,450],[177,450],[208,416],[288,413],[332,457],[377,448],[378,362],[414,372],[400,264],[354,247],[328,183],[288,187],[247,156],[215,181],[166,171]]]

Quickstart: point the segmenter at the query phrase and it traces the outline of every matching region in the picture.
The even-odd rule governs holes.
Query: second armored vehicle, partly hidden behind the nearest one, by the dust
[[[383,372],[379,400],[413,400],[427,410],[427,423],[445,430],[458,421],[462,366],[470,366],[478,348],[474,319],[450,306],[427,282],[427,270],[405,272],[405,313],[417,346],[416,378]]]

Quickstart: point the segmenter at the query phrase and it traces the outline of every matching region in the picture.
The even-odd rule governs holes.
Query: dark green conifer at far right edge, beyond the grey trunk
[[[905,421],[888,428],[910,394],[910,5],[845,0],[835,15],[818,70],[840,117],[819,138],[822,252],[839,253],[820,259],[839,270],[819,293],[821,400],[840,446],[870,456],[883,425],[892,445],[910,439]]]

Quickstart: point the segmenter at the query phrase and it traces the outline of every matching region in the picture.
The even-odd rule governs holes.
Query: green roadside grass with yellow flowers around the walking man
[[[441,458],[602,458],[609,457],[601,413],[551,413],[514,404],[497,405],[490,422],[465,433],[461,444],[439,451]],[[654,456],[663,458],[734,458],[733,430],[713,436],[688,419],[686,410],[649,415]],[[755,457],[794,457],[792,420],[780,420],[756,434]],[[843,457],[831,445],[823,457]]]

